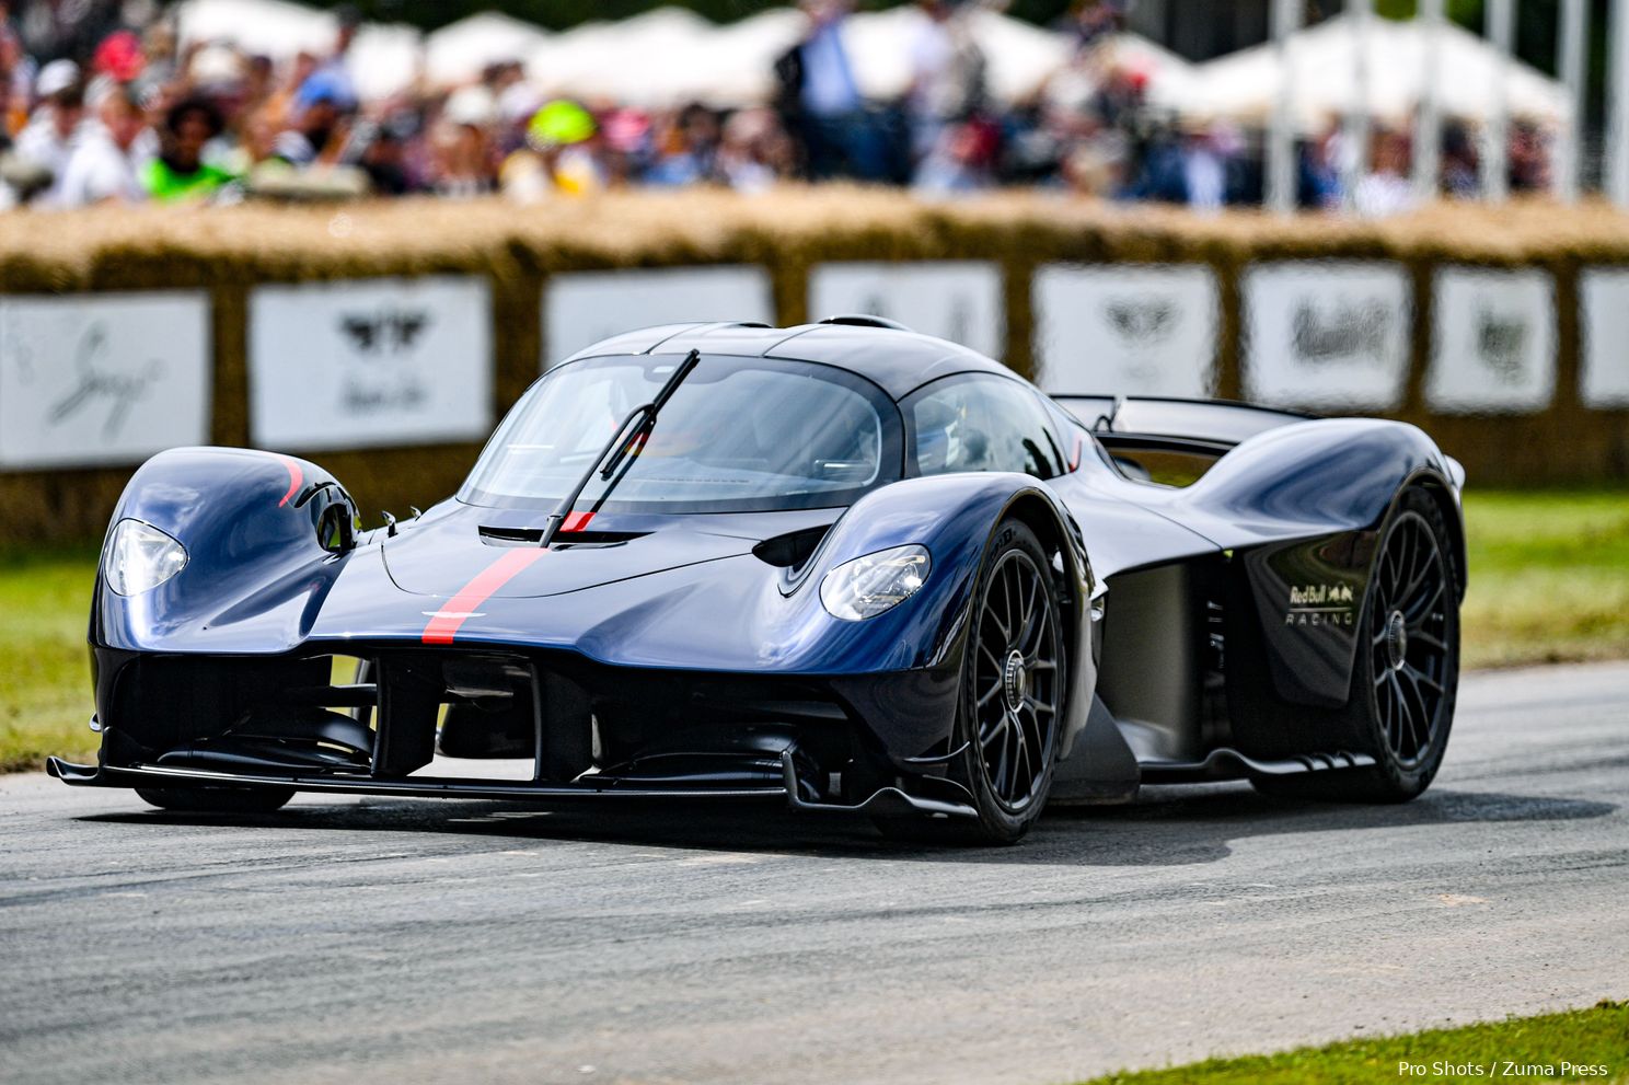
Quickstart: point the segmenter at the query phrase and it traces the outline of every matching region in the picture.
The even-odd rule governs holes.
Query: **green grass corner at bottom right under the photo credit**
[[[1588,1069],[1569,1074],[1562,1062],[1606,1069],[1596,1074]],[[1424,1074],[1406,1070],[1406,1065],[1424,1067]],[[1434,1069],[1442,1072],[1432,1072]],[[1455,1069],[1460,1072],[1455,1074]],[[1507,1069],[1515,1072],[1505,1075]],[[1622,1085],[1629,1082],[1629,1004],[1601,1002],[1593,1008],[1570,1013],[1440,1028],[1409,1036],[1349,1039],[1328,1048],[1298,1048],[1276,1056],[1209,1059],[1168,1070],[1109,1074],[1085,1085],[1372,1085],[1373,1082]]]

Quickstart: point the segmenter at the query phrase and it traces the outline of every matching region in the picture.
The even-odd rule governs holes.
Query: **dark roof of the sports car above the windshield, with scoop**
[[[834,365],[878,384],[894,399],[953,373],[990,373],[1023,380],[977,350],[899,327],[800,324],[771,327],[741,323],[660,324],[601,339],[565,362],[630,354],[784,358]]]

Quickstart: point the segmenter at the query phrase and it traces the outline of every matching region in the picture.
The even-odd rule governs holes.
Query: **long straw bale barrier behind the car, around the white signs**
[[[788,189],[608,194],[534,207],[397,200],[321,207],[86,210],[0,215],[0,300],[192,288],[210,301],[210,438],[249,441],[248,305],[261,283],[474,275],[490,285],[494,417],[536,378],[541,295],[549,275],[595,269],[749,264],[766,269],[784,324],[810,319],[808,275],[828,261],[994,262],[1005,303],[1003,360],[1033,370],[1031,280],[1043,264],[1202,264],[1220,313],[1215,389],[1240,398],[1241,272],[1261,261],[1388,261],[1412,282],[1406,393],[1394,417],[1416,422],[1469,469],[1473,484],[1629,476],[1629,411],[1579,396],[1579,275],[1629,266],[1629,217],[1601,204],[1562,209],[1437,205],[1378,223],[1253,212],[1194,217],[1046,192],[922,202],[888,191]],[[1556,393],[1548,409],[1497,417],[1427,409],[1434,272],[1445,266],[1535,267],[1554,282]],[[321,461],[370,510],[451,492],[474,443],[353,450]],[[88,541],[134,464],[0,469],[0,542]]]

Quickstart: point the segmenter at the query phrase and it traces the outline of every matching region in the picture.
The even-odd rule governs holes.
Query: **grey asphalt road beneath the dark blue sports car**
[[[1626,802],[1629,665],[1468,678],[1407,806],[1158,788],[1003,850],[11,777],[0,1080],[1067,1082],[1588,1005],[1629,997]]]

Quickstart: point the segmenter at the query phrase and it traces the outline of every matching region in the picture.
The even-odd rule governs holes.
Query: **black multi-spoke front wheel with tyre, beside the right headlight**
[[[963,660],[951,774],[977,821],[880,818],[886,836],[1015,844],[1046,806],[1069,689],[1052,559],[1025,523],[995,529],[974,593]]]

